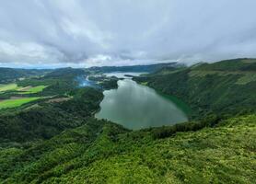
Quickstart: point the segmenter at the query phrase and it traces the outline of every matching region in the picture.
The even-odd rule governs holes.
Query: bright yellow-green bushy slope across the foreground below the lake
[[[214,129],[158,140],[150,130],[128,132],[91,120],[28,150],[2,149],[0,178],[6,183],[253,183],[255,120],[256,115],[233,118]]]

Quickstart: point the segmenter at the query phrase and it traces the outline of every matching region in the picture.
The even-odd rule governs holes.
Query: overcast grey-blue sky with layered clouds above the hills
[[[255,0],[0,0],[0,67],[256,57]]]

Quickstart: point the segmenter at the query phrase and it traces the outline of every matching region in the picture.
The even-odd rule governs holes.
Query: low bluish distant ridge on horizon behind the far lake
[[[88,71],[98,73],[111,73],[111,72],[156,72],[161,68],[174,67],[177,63],[155,63],[147,65],[132,65],[132,66],[102,66],[102,67],[90,67]]]

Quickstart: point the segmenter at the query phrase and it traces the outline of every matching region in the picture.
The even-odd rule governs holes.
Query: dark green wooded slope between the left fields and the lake
[[[0,116],[0,139],[23,143],[48,139],[65,129],[85,123],[85,118],[99,109],[101,92],[81,88],[71,92],[74,98],[64,102],[41,102],[37,107]]]

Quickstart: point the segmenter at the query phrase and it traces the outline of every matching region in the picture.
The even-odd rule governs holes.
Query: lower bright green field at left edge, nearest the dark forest
[[[39,98],[16,98],[0,101],[0,109],[16,108]]]

